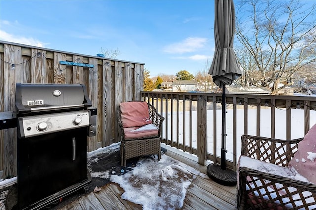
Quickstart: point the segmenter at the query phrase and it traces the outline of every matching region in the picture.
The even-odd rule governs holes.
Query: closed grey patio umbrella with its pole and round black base
[[[207,167],[207,174],[223,185],[236,185],[237,173],[226,169],[226,98],[225,86],[241,76],[241,70],[233,51],[235,34],[235,8],[232,0],[215,0],[215,53],[209,74],[214,83],[222,87],[222,147],[221,165]],[[216,157],[214,157],[216,158]]]

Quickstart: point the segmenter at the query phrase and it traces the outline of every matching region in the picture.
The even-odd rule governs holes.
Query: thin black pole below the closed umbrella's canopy
[[[225,85],[222,87],[222,147],[221,147],[221,169],[226,169],[226,93]]]

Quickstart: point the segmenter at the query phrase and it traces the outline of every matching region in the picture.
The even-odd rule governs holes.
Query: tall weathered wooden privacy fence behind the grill
[[[97,108],[97,136],[88,139],[93,151],[117,142],[116,107],[141,99],[143,69],[144,63],[0,41],[0,112],[15,110],[18,82],[84,84]],[[16,164],[16,128],[0,130],[0,179],[16,176]]]

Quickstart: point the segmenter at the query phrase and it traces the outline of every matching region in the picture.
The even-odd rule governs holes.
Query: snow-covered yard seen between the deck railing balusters
[[[226,114],[226,149],[227,149],[227,159],[233,160],[233,110],[227,109]],[[257,130],[257,119],[256,119],[256,109],[248,109],[248,134],[256,136]],[[220,154],[221,149],[221,133],[222,133],[222,110],[217,110],[217,122],[216,122],[216,132],[217,132],[217,154]],[[310,127],[316,123],[316,111],[310,111]],[[176,116],[176,112],[174,112]],[[185,131],[183,131],[183,117],[182,112],[179,113],[179,139],[182,142],[183,135],[185,135],[186,145],[189,146],[189,112],[186,112],[185,116]],[[196,119],[197,111],[192,111],[192,144],[194,148],[197,148],[197,128],[196,128]],[[176,117],[173,119],[174,125],[177,124]],[[165,128],[165,121],[163,122],[163,128]],[[171,113],[168,113],[168,139],[171,138]],[[213,110],[207,111],[207,151],[213,153]],[[241,135],[244,134],[244,110],[237,109],[237,158],[241,154]],[[292,109],[291,110],[291,139],[304,137],[304,110],[303,109]],[[175,126],[174,126],[175,129]],[[260,136],[271,137],[271,110],[270,109],[261,109],[260,116]],[[286,139],[286,110],[285,109],[276,109],[276,128],[275,128],[275,138]],[[163,131],[163,137],[165,138],[165,131]],[[176,140],[177,134],[176,131],[173,132],[173,140]]]

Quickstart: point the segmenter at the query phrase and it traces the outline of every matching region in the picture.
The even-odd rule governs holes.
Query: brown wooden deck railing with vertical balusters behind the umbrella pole
[[[196,155],[199,164],[220,163],[222,94],[141,94],[165,117],[163,143]],[[293,139],[303,137],[315,123],[316,97],[226,94],[227,167],[236,170],[242,134]]]

